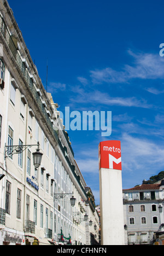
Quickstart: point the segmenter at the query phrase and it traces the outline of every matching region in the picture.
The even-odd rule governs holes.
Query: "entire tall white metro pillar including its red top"
[[[99,143],[99,189],[102,245],[125,245],[121,143]]]

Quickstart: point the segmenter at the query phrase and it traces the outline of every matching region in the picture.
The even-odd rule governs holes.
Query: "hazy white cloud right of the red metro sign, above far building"
[[[121,138],[122,171],[156,173],[163,168],[164,148],[148,139],[134,138],[124,133]]]

